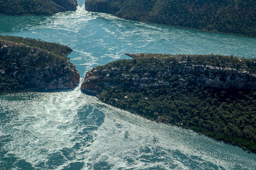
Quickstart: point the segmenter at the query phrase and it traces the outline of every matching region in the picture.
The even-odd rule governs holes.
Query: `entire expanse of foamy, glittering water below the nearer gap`
[[[2,147],[6,157],[13,154],[34,168],[62,169],[75,162],[82,162],[86,170],[256,166],[255,158],[238,147],[102,104],[79,87],[37,94],[40,100],[30,101],[0,130],[0,135],[11,136]],[[97,124],[100,112],[104,121]]]

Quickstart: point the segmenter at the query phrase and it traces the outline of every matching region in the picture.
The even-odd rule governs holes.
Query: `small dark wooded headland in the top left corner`
[[[0,15],[48,16],[58,12],[74,11],[76,0],[0,0]]]

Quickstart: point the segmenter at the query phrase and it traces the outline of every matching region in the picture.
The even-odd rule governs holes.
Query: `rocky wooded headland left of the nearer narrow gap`
[[[71,51],[58,43],[0,35],[0,92],[77,86],[80,75],[67,57]]]

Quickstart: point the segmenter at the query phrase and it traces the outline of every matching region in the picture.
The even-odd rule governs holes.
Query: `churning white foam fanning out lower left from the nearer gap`
[[[2,125],[1,134],[12,136],[3,146],[8,150],[6,156],[14,154],[36,167],[49,161],[51,154],[62,155],[61,149],[72,148],[77,142],[74,137],[82,125],[77,110],[87,102],[79,87],[73,91],[46,93]]]

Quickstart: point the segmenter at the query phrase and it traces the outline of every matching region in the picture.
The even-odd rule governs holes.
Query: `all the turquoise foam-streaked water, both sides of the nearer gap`
[[[0,16],[0,34],[68,45],[83,80],[123,53],[256,57],[256,39],[75,12]],[[81,82],[80,81],[80,82]],[[193,131],[155,123],[76,87],[0,95],[0,169],[256,169],[256,154]]]

